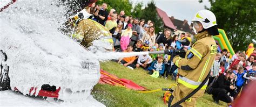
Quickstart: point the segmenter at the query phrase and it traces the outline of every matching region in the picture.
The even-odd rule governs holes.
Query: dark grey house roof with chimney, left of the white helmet
[[[174,24],[174,26],[177,28],[177,30],[193,33],[190,29],[190,25],[188,25],[187,20],[179,20],[175,19],[174,17],[170,17],[170,20]]]

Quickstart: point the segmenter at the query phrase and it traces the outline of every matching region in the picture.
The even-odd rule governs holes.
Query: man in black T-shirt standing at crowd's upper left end
[[[107,20],[107,16],[109,15],[106,9],[107,9],[107,4],[103,3],[102,7],[99,6],[99,8],[94,13],[96,21],[102,25],[104,25],[105,21]]]

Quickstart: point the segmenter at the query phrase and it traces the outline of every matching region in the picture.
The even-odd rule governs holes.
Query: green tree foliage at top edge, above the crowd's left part
[[[132,2],[129,2],[129,0],[98,0],[96,4],[102,5],[102,3],[107,3],[107,11],[115,9],[119,13],[121,10],[124,10],[125,15],[131,15]]]

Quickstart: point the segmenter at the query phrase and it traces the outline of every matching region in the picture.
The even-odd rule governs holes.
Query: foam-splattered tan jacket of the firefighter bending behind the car
[[[85,47],[92,46],[92,41],[102,40],[103,42],[113,45],[112,36],[107,28],[95,20],[83,19],[77,27],[76,33],[72,35],[72,38],[82,41],[81,44]]]

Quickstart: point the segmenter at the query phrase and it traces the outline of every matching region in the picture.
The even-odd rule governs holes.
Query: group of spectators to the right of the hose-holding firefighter
[[[219,101],[231,103],[247,90],[250,81],[255,81],[256,73],[256,48],[251,55],[238,51],[230,57],[230,52],[223,49],[215,56],[208,81],[208,90],[212,89],[212,98],[215,103]],[[212,88],[210,88],[212,87]]]

